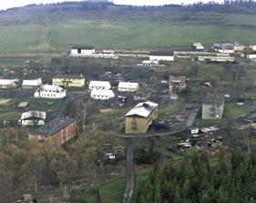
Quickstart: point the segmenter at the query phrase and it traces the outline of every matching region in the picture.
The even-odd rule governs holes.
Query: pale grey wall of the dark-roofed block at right
[[[215,109],[215,110],[212,110]],[[224,111],[224,104],[217,106],[217,105],[209,105],[203,104],[202,105],[202,119],[222,119]],[[219,117],[216,117],[219,115]]]

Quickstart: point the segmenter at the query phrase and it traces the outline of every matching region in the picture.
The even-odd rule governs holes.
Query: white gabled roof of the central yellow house
[[[150,101],[138,103],[125,117],[148,117],[156,107],[159,107],[159,105]]]

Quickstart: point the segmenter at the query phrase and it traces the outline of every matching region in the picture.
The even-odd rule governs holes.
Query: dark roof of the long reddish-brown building
[[[61,118],[56,117],[55,119],[51,120],[49,123],[42,127],[36,128],[32,133],[31,136],[53,136],[56,132],[60,131],[64,127],[69,126],[70,124],[76,122],[74,118]]]

